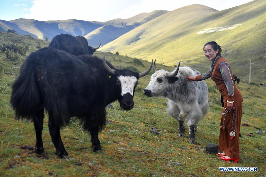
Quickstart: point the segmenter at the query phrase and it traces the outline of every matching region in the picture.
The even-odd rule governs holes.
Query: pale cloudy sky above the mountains
[[[0,19],[19,18],[39,21],[77,19],[104,22],[115,18],[130,18],[154,10],[175,10],[191,4],[201,4],[224,10],[251,0],[0,0]],[[262,0],[265,1],[265,0]]]

